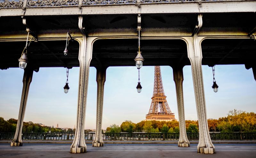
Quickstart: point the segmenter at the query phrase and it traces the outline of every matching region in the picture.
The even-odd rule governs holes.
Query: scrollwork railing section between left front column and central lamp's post
[[[83,0],[83,5],[136,4],[137,0]]]

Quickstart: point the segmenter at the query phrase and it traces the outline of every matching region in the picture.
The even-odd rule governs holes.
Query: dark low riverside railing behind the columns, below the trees
[[[23,140],[73,140],[75,133],[22,133]],[[103,140],[179,140],[179,133],[102,133]],[[187,133],[189,140],[198,140],[199,133]],[[0,140],[13,139],[14,133],[0,133]],[[85,133],[93,140],[95,133]],[[212,140],[256,140],[256,133],[210,133]]]

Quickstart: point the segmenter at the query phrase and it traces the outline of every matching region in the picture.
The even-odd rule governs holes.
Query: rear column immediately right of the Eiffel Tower
[[[184,114],[184,99],[183,99],[183,66],[173,68],[173,80],[176,87],[177,106],[180,123],[180,139],[179,147],[189,147],[189,141],[186,132],[185,114]]]

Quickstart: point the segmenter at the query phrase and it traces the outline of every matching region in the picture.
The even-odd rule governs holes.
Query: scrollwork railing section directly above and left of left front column
[[[78,4],[79,0],[28,0],[27,7],[72,6]]]

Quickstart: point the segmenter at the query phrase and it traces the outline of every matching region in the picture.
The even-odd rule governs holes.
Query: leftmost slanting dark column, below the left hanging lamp
[[[12,140],[11,146],[22,146],[22,140],[21,140],[22,125],[23,125],[23,120],[24,120],[25,111],[26,111],[26,105],[27,105],[27,101],[28,101],[29,86],[30,86],[30,83],[31,83],[32,77],[33,77],[33,71],[34,70],[30,67],[27,67],[24,69],[23,89],[22,89],[22,94],[21,94],[19,117],[18,117],[16,132],[15,132],[14,138]]]

